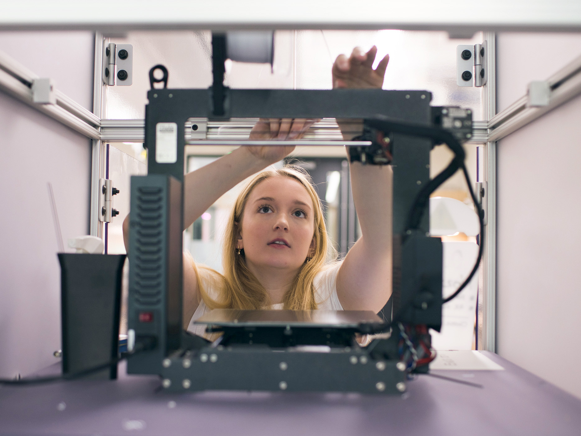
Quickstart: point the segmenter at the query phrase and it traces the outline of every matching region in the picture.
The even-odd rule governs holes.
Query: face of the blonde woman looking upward
[[[314,207],[293,178],[268,177],[250,192],[238,246],[249,267],[299,269],[314,249]]]

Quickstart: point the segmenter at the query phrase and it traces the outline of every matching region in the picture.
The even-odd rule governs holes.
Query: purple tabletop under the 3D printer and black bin
[[[153,376],[0,387],[0,435],[577,435],[581,400],[494,353],[504,371],[433,371],[397,396],[168,394]]]

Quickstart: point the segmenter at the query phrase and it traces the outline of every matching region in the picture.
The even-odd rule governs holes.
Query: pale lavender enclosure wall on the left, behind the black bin
[[[94,35],[0,33],[0,49],[92,110]],[[46,183],[64,244],[88,234],[91,142],[0,92],[0,377],[56,362],[60,267]]]

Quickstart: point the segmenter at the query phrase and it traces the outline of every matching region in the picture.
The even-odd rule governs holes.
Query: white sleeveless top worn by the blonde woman
[[[317,302],[317,308],[322,310],[343,310],[343,306],[339,302],[339,297],[337,296],[337,274],[339,273],[339,268],[342,262],[331,263],[329,266],[325,267],[320,273],[315,276],[313,280],[313,286],[315,288],[315,301]],[[211,287],[208,280],[203,280],[202,284],[206,290],[208,296],[212,299],[218,298],[218,290]],[[270,309],[282,309],[282,303],[273,304]],[[210,312],[208,306],[203,301],[200,301],[198,309],[193,313],[192,319],[189,321],[188,331],[199,336],[203,336],[206,333],[206,324],[194,324],[193,321],[197,320],[200,316],[205,315]]]

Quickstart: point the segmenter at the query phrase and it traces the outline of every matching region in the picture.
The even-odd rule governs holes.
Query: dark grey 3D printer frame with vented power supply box
[[[426,91],[230,90],[222,87],[220,92],[223,95],[221,115],[216,115],[220,111],[214,107],[216,90],[213,88],[152,87],[148,92],[145,117],[148,176],[131,178],[128,315],[130,334],[135,335],[135,340],[153,341],[155,347],[132,356],[128,360],[128,373],[160,374],[164,388],[169,390],[282,389],[383,394],[404,391],[410,367],[401,362],[400,326],[411,330],[419,326],[427,333],[428,327],[439,330],[441,324],[441,241],[429,237],[428,213],[422,216],[414,231],[406,227],[414,199],[429,181],[433,141],[414,135],[383,133],[390,137],[393,167],[393,309],[389,308],[386,313],[388,319],[382,321],[377,317],[371,321],[332,325],[289,321],[285,327],[281,322],[232,324],[228,323],[227,316],[225,321],[209,324],[210,329],[224,332],[220,340],[211,343],[182,331],[185,126],[191,117],[365,120],[378,116],[434,126],[435,121],[442,123],[440,115],[446,111],[432,108],[431,94]],[[469,124],[467,131],[471,131],[470,111],[460,110],[457,116],[464,118],[462,128],[466,129]],[[175,129],[173,162],[164,163],[159,153],[156,159],[156,147],[167,148],[166,139],[163,144],[160,142],[157,132],[160,126]],[[368,189],[375,190],[375,187]],[[355,333],[373,333],[387,326],[390,313],[398,321],[390,326],[390,338],[374,339],[363,348],[354,341]],[[404,333],[403,337],[407,335]]]

